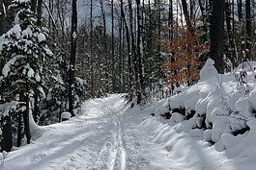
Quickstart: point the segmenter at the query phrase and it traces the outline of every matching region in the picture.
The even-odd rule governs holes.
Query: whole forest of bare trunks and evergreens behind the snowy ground
[[[251,0],[0,0],[1,150],[85,100],[144,106],[195,85],[209,58],[219,74],[254,61],[255,22]]]

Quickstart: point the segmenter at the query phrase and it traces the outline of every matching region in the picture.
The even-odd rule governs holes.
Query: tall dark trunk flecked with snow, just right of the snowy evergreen
[[[70,82],[69,82],[69,111],[74,116],[74,65],[76,53],[76,35],[77,35],[77,10],[76,0],[72,0],[71,16],[71,59],[70,59]]]

